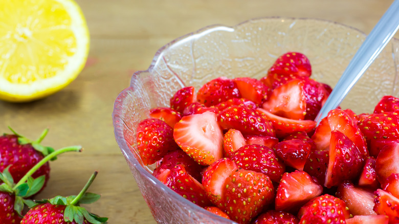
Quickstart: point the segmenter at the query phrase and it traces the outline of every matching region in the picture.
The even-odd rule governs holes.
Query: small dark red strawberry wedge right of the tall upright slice
[[[363,167],[363,171],[360,174],[359,183],[360,187],[366,187],[376,190],[380,187],[380,183],[377,181],[377,173],[375,172],[375,159],[368,157]]]

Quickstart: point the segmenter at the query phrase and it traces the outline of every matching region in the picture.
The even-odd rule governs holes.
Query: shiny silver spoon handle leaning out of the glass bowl
[[[354,83],[360,79],[374,59],[385,48],[398,28],[399,0],[395,0],[349,62],[347,68],[334,87],[333,92],[331,92],[330,96],[319,111],[319,114],[315,119],[317,124],[319,124],[321,119],[327,116],[328,111],[337,108],[349,93]]]

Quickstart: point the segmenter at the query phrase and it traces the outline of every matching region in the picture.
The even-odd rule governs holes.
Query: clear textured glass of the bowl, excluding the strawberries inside
[[[132,75],[130,86],[115,100],[115,137],[137,185],[158,223],[235,223],[214,215],[181,197],[151,175],[137,152],[136,127],[149,109],[169,106],[170,97],[183,86],[199,89],[219,77],[265,76],[276,58],[289,51],[305,54],[312,77],[334,87],[365,34],[311,18],[268,17],[233,27],[208,26],[162,47],[148,70]],[[392,39],[341,107],[372,113],[384,95],[398,95],[399,40]]]

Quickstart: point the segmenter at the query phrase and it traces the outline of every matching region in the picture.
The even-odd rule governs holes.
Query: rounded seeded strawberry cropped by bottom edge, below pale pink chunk
[[[345,223],[349,218],[348,208],[343,200],[324,194],[304,205],[298,213],[299,223]]]

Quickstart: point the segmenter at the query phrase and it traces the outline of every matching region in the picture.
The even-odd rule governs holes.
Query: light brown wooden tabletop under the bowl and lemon
[[[264,16],[334,20],[365,33],[391,0],[77,0],[91,32],[86,68],[62,91],[25,104],[0,102],[0,127],[35,139],[50,127],[44,145],[82,145],[51,163],[51,179],[39,197],[77,194],[94,170],[91,192],[101,199],[86,208],[109,223],[155,223],[114,138],[113,103],[134,71],[148,68],[154,53],[176,37],[211,24],[235,25]],[[396,37],[398,35],[396,34]]]

